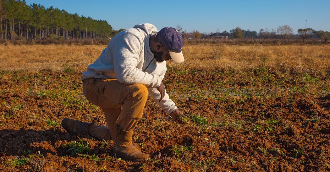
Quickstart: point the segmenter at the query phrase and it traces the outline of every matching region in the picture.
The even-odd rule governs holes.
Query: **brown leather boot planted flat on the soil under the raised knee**
[[[114,138],[114,154],[132,162],[143,161],[150,156],[139,151],[132,144],[133,131],[128,132],[116,126],[116,137]]]

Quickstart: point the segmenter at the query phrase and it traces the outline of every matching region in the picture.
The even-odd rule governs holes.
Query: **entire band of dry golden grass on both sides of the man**
[[[69,65],[86,70],[105,45],[0,45],[1,70],[60,71]],[[241,72],[272,71],[321,73],[329,70],[330,45],[184,45],[185,62],[168,62],[174,70]]]

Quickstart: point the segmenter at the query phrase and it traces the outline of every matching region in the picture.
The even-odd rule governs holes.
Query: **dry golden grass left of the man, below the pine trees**
[[[83,71],[95,61],[103,45],[10,45],[0,46],[2,70],[59,71],[69,65]]]

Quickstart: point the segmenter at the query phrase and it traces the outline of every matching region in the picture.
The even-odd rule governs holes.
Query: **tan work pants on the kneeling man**
[[[84,79],[82,91],[89,102],[100,106],[104,112],[108,127],[88,126],[88,134],[100,140],[115,138],[116,125],[125,131],[133,131],[142,118],[148,97],[145,85],[123,84],[117,79]]]

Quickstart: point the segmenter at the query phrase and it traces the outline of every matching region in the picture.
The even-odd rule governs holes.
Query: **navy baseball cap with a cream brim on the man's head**
[[[171,58],[177,63],[184,61],[182,54],[183,39],[175,28],[166,27],[157,32],[158,41],[170,52]]]

